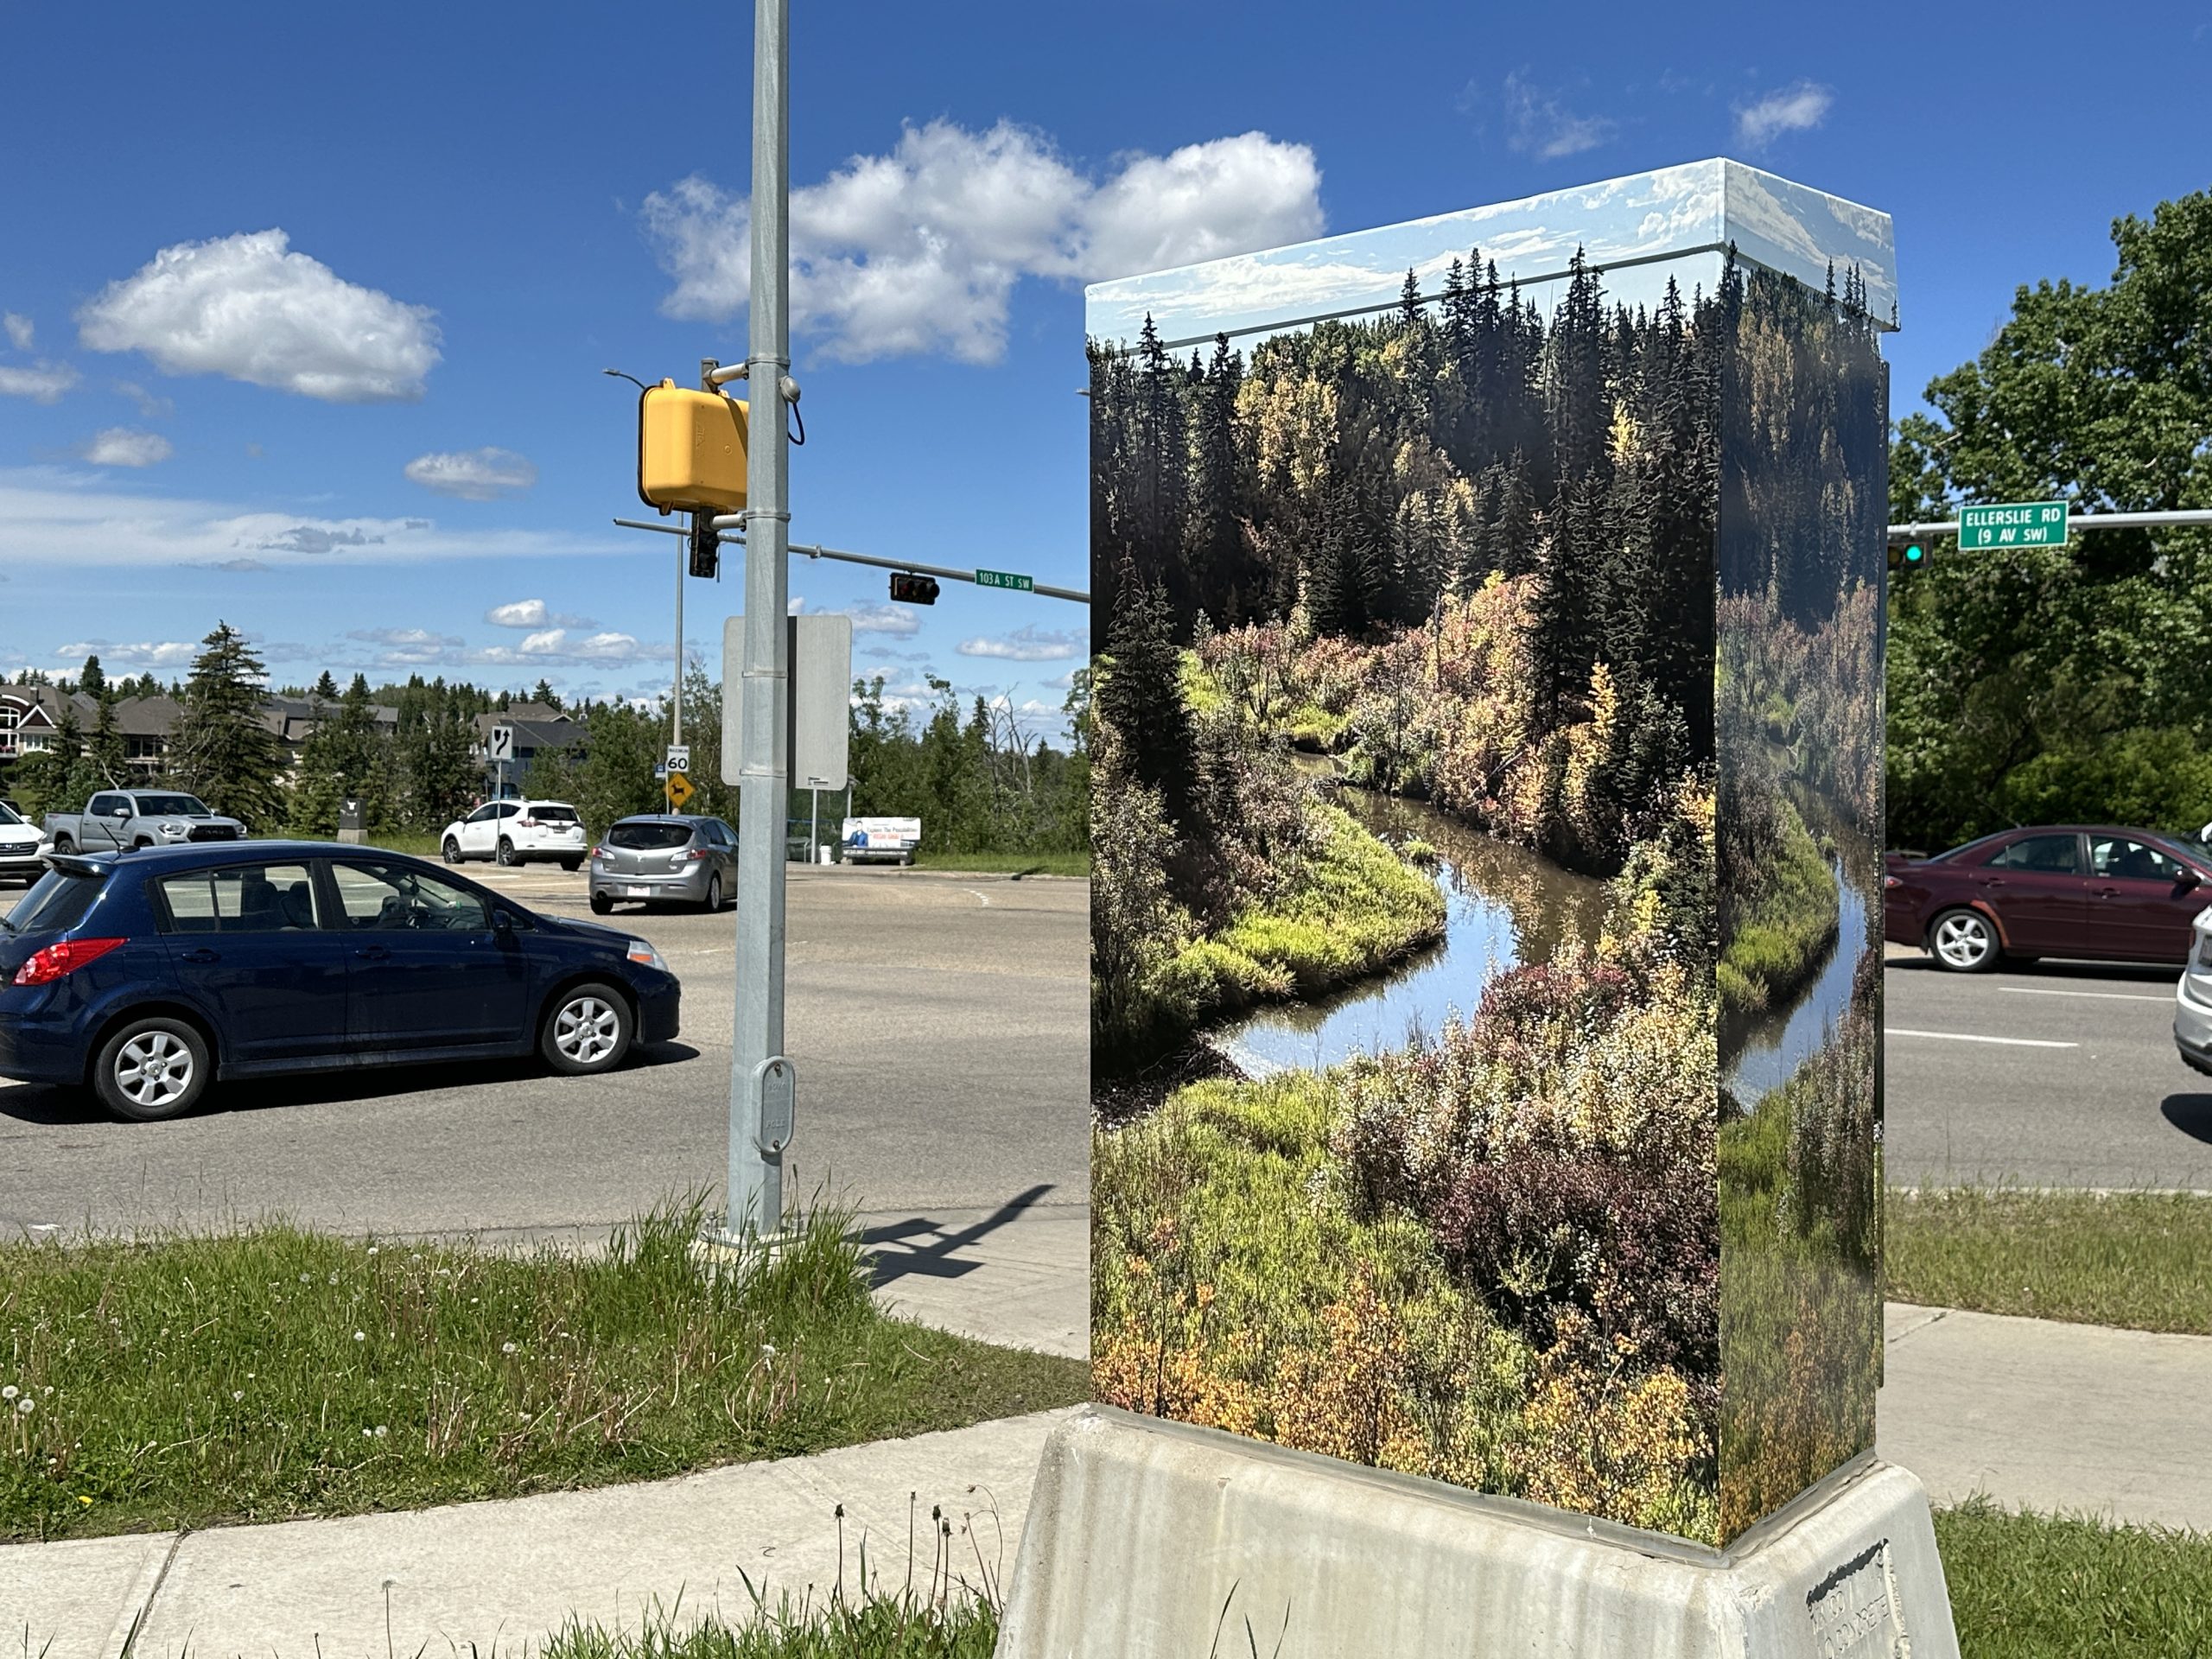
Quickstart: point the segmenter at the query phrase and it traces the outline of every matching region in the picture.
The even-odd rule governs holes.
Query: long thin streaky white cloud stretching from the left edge
[[[239,502],[111,489],[93,469],[0,469],[0,549],[11,566],[215,564],[252,557],[272,568],[422,564],[436,560],[546,560],[635,553],[622,531],[453,531],[429,518],[321,518]]]

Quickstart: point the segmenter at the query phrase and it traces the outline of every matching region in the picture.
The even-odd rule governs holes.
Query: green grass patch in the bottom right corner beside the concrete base
[[[2212,1537],[1936,1511],[1962,1659],[2201,1659],[2212,1652]]]

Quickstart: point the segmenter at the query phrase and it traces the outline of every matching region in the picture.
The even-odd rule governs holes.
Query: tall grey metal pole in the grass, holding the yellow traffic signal
[[[792,1062],[783,1057],[783,752],[790,699],[790,453],[783,376],[790,358],[790,0],[752,9],[752,332],[745,356],[745,710],[739,732],[737,1009],[730,1031],[730,1210],[723,1237],[783,1223],[783,1141]],[[770,1108],[772,1110],[763,1110]]]

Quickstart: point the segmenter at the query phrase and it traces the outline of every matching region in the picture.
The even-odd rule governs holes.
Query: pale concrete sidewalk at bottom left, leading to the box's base
[[[385,1659],[476,1644],[535,1650],[571,1617],[611,1628],[646,1610],[739,1619],[843,1582],[927,1588],[931,1506],[953,1524],[951,1575],[1013,1571],[1029,1484],[1060,1418],[880,1440],[681,1480],[396,1515],[217,1526],[0,1548],[0,1639],[31,1659]],[[836,1506],[845,1506],[843,1548]]]

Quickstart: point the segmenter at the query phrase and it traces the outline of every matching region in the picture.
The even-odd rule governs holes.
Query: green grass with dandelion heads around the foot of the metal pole
[[[288,1225],[0,1245],[0,1542],[653,1480],[1088,1396],[880,1314],[834,1214],[712,1279],[699,1206],[604,1254]]]

